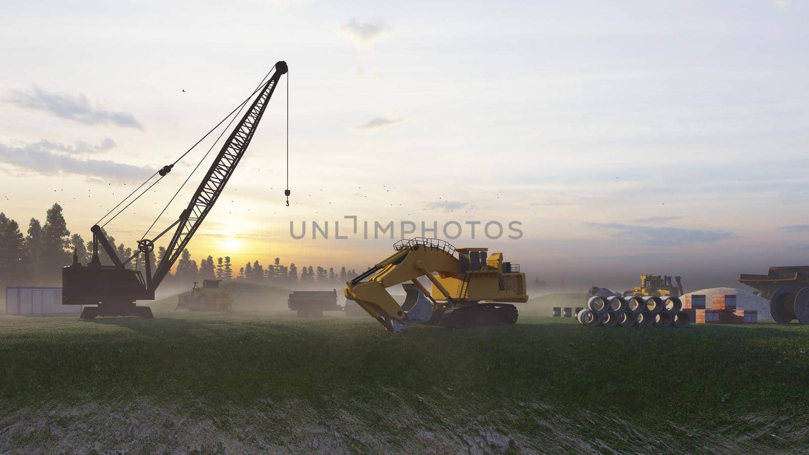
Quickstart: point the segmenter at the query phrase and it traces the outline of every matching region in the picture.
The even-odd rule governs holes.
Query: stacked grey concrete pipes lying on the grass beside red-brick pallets
[[[677,297],[591,297],[576,319],[587,327],[688,327],[691,317]]]

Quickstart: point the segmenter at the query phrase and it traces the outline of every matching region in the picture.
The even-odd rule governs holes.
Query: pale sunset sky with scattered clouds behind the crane
[[[6,1],[0,211],[24,228],[58,201],[91,238],[284,60],[195,258],[363,270],[403,221],[445,239],[455,221],[451,243],[502,251],[530,280],[735,286],[807,263],[807,21],[798,0]],[[210,145],[108,232],[135,245]],[[365,221],[393,222],[394,239],[366,240]],[[489,222],[504,234],[481,236]]]

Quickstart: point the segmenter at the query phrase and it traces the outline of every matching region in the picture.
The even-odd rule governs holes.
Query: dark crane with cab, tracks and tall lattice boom
[[[188,202],[188,206],[180,213],[180,217],[155,238],[139,240],[138,252],[123,261],[117,257],[115,248],[109,243],[104,230],[97,224],[93,226],[91,228],[93,232],[91,262],[87,266],[83,266],[78,263],[78,257],[74,254],[73,264],[62,268],[62,304],[98,305],[83,308],[81,317],[84,319],[92,319],[96,316],[152,317],[150,308],[136,306],[135,300],[155,299],[155,290],[172,269],[202,221],[205,220],[205,216],[222,194],[222,189],[227,185],[227,181],[250,145],[252,136],[256,132],[261,116],[264,115],[279,79],[288,71],[286,62],[277,62],[274,68],[275,71],[269,80],[264,83],[263,87],[260,87],[259,91],[256,91],[258,95],[255,100],[227,137],[222,145],[222,150],[214,159],[214,163],[210,165],[208,172]],[[157,173],[165,176],[171,172],[173,166],[174,164],[164,166]],[[288,197],[289,189],[285,193]],[[167,245],[166,253],[152,274],[150,254],[154,253],[155,240],[175,227],[176,230]],[[98,255],[99,244],[112,259],[112,266],[101,265]],[[125,265],[139,254],[143,254],[144,258],[145,279],[140,270],[125,268]]]

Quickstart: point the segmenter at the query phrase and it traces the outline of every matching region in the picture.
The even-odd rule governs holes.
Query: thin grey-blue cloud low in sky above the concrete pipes
[[[726,231],[632,226],[621,223],[588,223],[588,226],[610,231],[614,237],[625,238],[642,245],[655,246],[713,243],[719,240],[730,239],[734,236],[732,232]]]

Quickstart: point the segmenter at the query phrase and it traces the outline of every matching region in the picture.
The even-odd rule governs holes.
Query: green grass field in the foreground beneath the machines
[[[155,316],[0,317],[2,426],[67,415],[44,436],[6,431],[0,442],[57,444],[93,419],[77,411],[87,403],[139,403],[132,415],[171,408],[166,421],[214,422],[226,452],[258,447],[258,436],[231,431],[248,426],[268,449],[327,452],[454,451],[472,436],[494,452],[809,449],[803,326],[604,330],[523,316],[510,326],[390,334],[339,313]],[[222,415],[246,423],[218,424]],[[306,445],[320,434],[311,428],[327,428],[317,447]],[[146,428],[156,436],[133,448],[171,449],[162,429]]]

